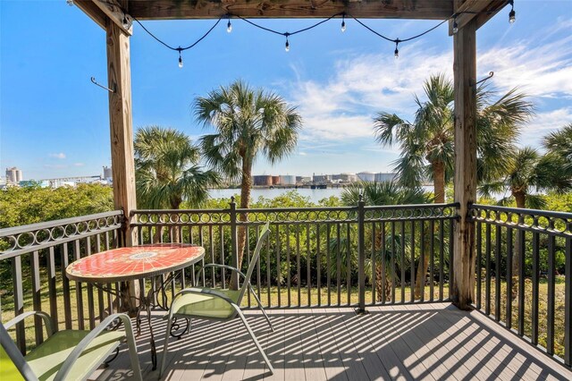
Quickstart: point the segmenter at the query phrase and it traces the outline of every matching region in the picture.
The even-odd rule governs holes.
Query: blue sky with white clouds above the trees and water
[[[572,123],[572,6],[570,1],[516,0],[477,32],[478,76],[494,71],[500,91],[519,86],[531,95],[536,115],[520,144],[538,146],[543,134]],[[263,20],[275,30],[298,30],[312,20]],[[392,38],[408,38],[436,21],[365,20]],[[197,47],[178,55],[135,25],[131,38],[134,130],[171,126],[193,139],[206,133],[195,123],[194,97],[235,79],[265,87],[299,107],[305,125],[291,157],[278,165],[257,161],[256,174],[332,174],[388,171],[397,148],[374,143],[377,111],[411,119],[413,95],[429,74],[452,78],[452,38],[447,26],[394,46],[347,20],[324,23],[284,38],[244,21],[226,22]],[[172,46],[192,43],[214,21],[146,21]],[[105,31],[64,0],[0,0],[0,168],[21,168],[25,179],[100,174],[110,165]]]

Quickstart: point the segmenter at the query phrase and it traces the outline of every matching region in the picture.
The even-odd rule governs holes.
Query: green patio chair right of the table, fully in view
[[[168,314],[167,334],[164,341],[163,358],[161,360],[161,370],[159,377],[163,377],[164,375],[164,368],[167,358],[167,347],[169,344],[170,336],[169,333],[171,332],[173,318],[231,320],[232,318],[236,318],[238,316],[242,321],[242,324],[246,327],[248,334],[250,334],[252,341],[257,346],[258,351],[260,351],[260,354],[262,354],[262,357],[265,360],[265,363],[268,366],[270,372],[272,374],[274,373],[274,368],[270,363],[270,360],[268,360],[265,351],[262,349],[260,343],[258,343],[257,336],[255,336],[254,332],[248,325],[247,319],[244,317],[244,314],[240,310],[240,303],[242,302],[242,298],[244,297],[245,293],[248,291],[252,292],[252,295],[254,296],[258,306],[265,316],[268,326],[270,326],[270,329],[274,331],[272,323],[270,322],[270,318],[268,318],[268,315],[266,315],[265,309],[262,307],[262,303],[258,299],[256,292],[254,292],[254,289],[250,284],[250,277],[254,272],[258,257],[260,257],[260,251],[262,250],[265,240],[270,234],[269,226],[270,223],[266,223],[259,233],[257,247],[254,250],[254,254],[250,260],[250,266],[248,267],[246,275],[240,272],[238,268],[226,265],[207,264],[204,267],[198,269],[195,279],[198,279],[198,275],[206,267],[219,267],[230,270],[242,278],[242,286],[240,287],[240,290],[235,291],[227,289],[213,289],[208,287],[193,287],[181,290],[181,292],[175,294],[175,297],[171,303],[171,309],[169,309]]]

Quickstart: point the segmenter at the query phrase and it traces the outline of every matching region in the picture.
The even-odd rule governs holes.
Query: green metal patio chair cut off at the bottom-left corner
[[[23,356],[7,329],[31,316],[42,318],[47,339]],[[116,319],[122,320],[124,332],[106,330]],[[133,376],[136,380],[142,380],[137,345],[127,315],[110,315],[92,331],[66,329],[54,332],[52,318],[45,312],[26,312],[5,325],[0,323],[0,379],[85,380],[125,340],[129,347]]]

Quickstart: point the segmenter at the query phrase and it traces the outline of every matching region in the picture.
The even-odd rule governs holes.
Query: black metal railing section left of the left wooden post
[[[12,278],[12,288],[4,284],[2,320],[25,310],[43,310],[58,328],[93,329],[113,311],[113,301],[91,284],[70,282],[65,267],[72,261],[102,250],[122,246],[122,211],[101,213],[0,229],[1,279]],[[13,311],[11,313],[10,311]],[[23,323],[16,326],[16,343],[22,352],[44,339],[41,322],[34,332]]]

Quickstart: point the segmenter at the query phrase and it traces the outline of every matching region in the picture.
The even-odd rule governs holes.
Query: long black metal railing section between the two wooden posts
[[[205,247],[207,263],[236,266],[242,231],[245,271],[258,229],[269,221],[270,239],[252,279],[265,308],[363,309],[446,301],[450,294],[455,204],[239,209],[231,203],[223,210],[135,210],[131,217],[139,242],[195,243]],[[420,261],[427,263],[426,286],[416,295]],[[195,270],[172,284],[173,292],[189,282],[228,285],[224,271],[209,268],[194,279]]]

